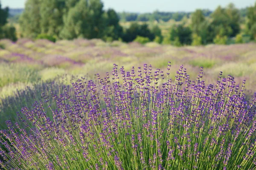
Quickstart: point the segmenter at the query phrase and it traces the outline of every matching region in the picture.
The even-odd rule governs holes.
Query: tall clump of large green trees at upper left
[[[20,17],[23,37],[47,34],[72,40],[122,36],[122,27],[113,9],[103,10],[101,0],[28,0]]]

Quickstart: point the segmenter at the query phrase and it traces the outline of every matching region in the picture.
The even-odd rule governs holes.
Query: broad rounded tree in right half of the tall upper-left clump
[[[105,24],[103,13],[103,4],[100,0],[80,0],[64,16],[64,28],[60,37],[102,38]]]

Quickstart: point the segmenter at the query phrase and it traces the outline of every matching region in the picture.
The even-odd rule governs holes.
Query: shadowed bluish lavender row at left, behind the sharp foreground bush
[[[20,123],[16,112],[20,111],[20,109],[25,106],[32,109],[32,104],[35,101],[44,99],[42,97],[42,92],[44,92],[44,94],[47,96],[50,95],[50,91],[52,91],[54,94],[62,94],[64,92],[63,88],[66,86],[67,91],[73,97],[73,88],[70,86],[71,83],[69,83],[67,79],[67,76],[61,76],[52,81],[38,80],[31,86],[26,86],[24,89],[16,90],[12,96],[0,98],[0,129],[7,128],[5,124],[6,120]],[[75,81],[78,79],[78,77],[70,77],[70,79],[71,81]],[[56,108],[54,99],[49,98],[49,103],[52,105],[52,108]],[[44,107],[47,107],[46,103],[44,104]],[[46,111],[47,116],[52,118],[51,110],[46,108]]]

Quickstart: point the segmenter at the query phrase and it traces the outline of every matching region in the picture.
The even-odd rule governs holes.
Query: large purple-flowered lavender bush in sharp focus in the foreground
[[[168,70],[170,63],[168,65]],[[203,69],[190,81],[186,68],[174,82],[151,65],[98,82],[73,83],[76,97],[52,93],[58,109],[43,102],[21,113],[35,128],[6,122],[1,130],[5,169],[211,170],[256,168],[256,94],[245,100],[228,76],[205,85]],[[121,83],[122,82],[122,83]],[[45,102],[48,102],[45,96]],[[48,106],[51,108],[51,106]],[[20,113],[17,114],[20,116]],[[23,121],[28,126],[28,122]]]

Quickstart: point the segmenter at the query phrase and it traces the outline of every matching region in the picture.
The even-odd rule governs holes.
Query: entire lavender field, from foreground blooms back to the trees
[[[147,73],[140,72],[143,71],[143,68],[144,71],[151,68],[150,65],[152,65],[154,75],[153,83],[149,83],[151,80],[148,80]],[[131,73],[127,73],[126,79],[124,78],[126,73],[121,66],[124,66],[125,71],[131,71]],[[133,66],[135,68],[132,68]],[[203,71],[201,67],[204,68]],[[119,68],[121,69],[119,70]],[[130,74],[133,75],[133,71],[139,75],[130,79]],[[220,71],[223,72],[221,77],[227,79],[224,79],[221,85],[217,85],[216,89],[209,86],[206,90],[207,85],[216,84],[219,80]],[[106,76],[106,72],[109,73],[109,76],[108,74]],[[168,77],[174,83],[173,88],[170,88],[169,81],[160,79],[160,76],[166,75],[166,72],[169,73]],[[120,78],[117,78],[117,74]],[[229,75],[235,77],[235,82]],[[112,85],[108,86],[108,78],[103,79],[105,76],[113,77]],[[83,78],[81,79],[81,77]],[[87,81],[84,84],[82,83],[83,79]],[[189,79],[197,79],[196,86],[189,87]],[[144,80],[146,80],[145,85],[142,84]],[[244,80],[246,80],[245,91],[243,91]],[[119,86],[118,81],[122,85]],[[225,83],[226,81],[227,83]],[[151,84],[155,85],[151,86]],[[150,88],[147,88],[146,85]],[[235,85],[239,85],[242,90],[233,91]],[[109,96],[108,88],[113,96]],[[122,91],[120,88],[125,90]],[[179,90],[179,88],[183,90]],[[156,89],[159,89],[158,92],[161,91],[161,93],[158,93]],[[102,91],[99,96],[98,90]],[[191,90],[191,93],[187,94],[186,90]],[[24,149],[25,147],[22,147],[21,150],[26,150],[26,156],[32,159],[29,159],[29,163],[20,161],[24,159],[24,155],[17,152],[15,154],[20,157],[16,157],[7,167],[15,167],[15,162],[20,161],[21,165],[19,166],[32,169],[35,167],[42,169],[45,167],[47,169],[52,167],[107,169],[108,166],[110,169],[118,170],[122,170],[123,167],[125,170],[133,169],[134,167],[131,167],[128,162],[132,162],[138,169],[148,169],[149,167],[156,169],[157,166],[160,169],[229,169],[234,166],[253,169],[256,159],[254,156],[248,156],[250,154],[248,150],[253,151],[252,155],[256,150],[253,142],[256,129],[255,118],[253,118],[255,116],[256,96],[253,98],[255,91],[255,43],[174,47],[159,45],[155,42],[141,45],[135,42],[104,42],[98,39],[61,40],[55,43],[48,40],[19,39],[15,43],[10,40],[0,40],[0,129],[8,127],[11,132],[19,130],[18,125],[11,125],[10,122],[5,125],[4,122],[11,119],[12,122],[17,121],[22,124],[26,117],[28,124],[24,123],[23,127],[27,131],[29,131],[29,127],[40,129],[31,133],[32,135],[37,133],[41,135],[40,139],[35,138],[36,142],[34,142],[39,144],[42,140],[50,141],[49,145],[45,144],[45,141],[42,142],[42,145],[40,143],[39,148],[26,147]],[[244,92],[246,96],[240,92]],[[215,96],[216,93],[219,94],[219,97]],[[58,95],[60,95],[59,98]],[[168,100],[169,95],[170,99]],[[212,96],[212,98],[208,96]],[[150,98],[148,102],[147,97]],[[68,99],[75,99],[77,102]],[[247,99],[251,99],[252,104],[248,104]],[[46,102],[41,103],[40,100]],[[173,101],[173,105],[171,101]],[[190,105],[190,103],[192,104]],[[168,107],[164,107],[167,105]],[[26,108],[23,108],[25,106]],[[171,108],[172,110],[170,110]],[[173,122],[165,121],[170,119],[169,111],[173,113],[170,113],[173,116]],[[16,115],[16,112],[23,113],[23,116],[20,113]],[[81,116],[87,112],[88,122],[87,118],[85,120]],[[37,113],[37,116],[32,116],[32,113]],[[175,116],[177,113],[179,116]],[[231,113],[236,116],[230,117]],[[143,116],[140,117],[140,114]],[[148,117],[145,116],[146,114]],[[49,119],[46,119],[46,116],[49,116]],[[151,118],[152,122],[150,122]],[[210,119],[211,121],[209,121]],[[52,120],[54,121],[51,122]],[[61,125],[63,130],[61,130],[61,135],[63,136],[58,136],[58,130],[55,128],[59,125],[58,121],[63,123],[63,126]],[[98,124],[98,121],[107,121],[109,125],[107,122],[105,122],[106,125]],[[53,125],[54,127],[52,127]],[[117,127],[120,128],[119,133]],[[172,134],[161,131],[167,127],[171,129],[175,127]],[[88,140],[88,136],[83,136],[78,131],[76,133],[77,128],[84,134],[92,135],[93,142],[84,144],[84,141]],[[107,132],[106,128],[112,131]],[[68,130],[70,133],[67,132]],[[212,133],[208,134],[209,131]],[[31,136],[27,137],[25,132],[21,132],[24,134],[21,135],[23,141],[32,140]],[[6,134],[5,131],[1,131],[1,133]],[[135,137],[134,135],[129,136],[129,133],[134,133]],[[13,134],[13,138],[8,135],[5,137],[15,143],[17,136],[15,137],[16,133]],[[53,136],[52,139],[49,136]],[[126,136],[128,137],[126,138]],[[57,138],[59,143],[55,141]],[[101,143],[99,138],[104,143]],[[208,138],[212,140],[206,142]],[[192,147],[187,149],[186,147],[190,146],[189,139],[192,139]],[[131,149],[129,152],[126,153],[125,150],[120,149],[124,147],[120,146],[122,141],[127,144],[124,144],[125,148]],[[148,142],[151,142],[152,147],[149,147]],[[212,147],[214,143],[215,147]],[[102,150],[97,150],[96,145],[98,144]],[[86,151],[77,151],[80,145]],[[4,146],[8,149],[7,143]],[[53,149],[51,149],[52,146],[54,146]],[[63,147],[65,150],[60,152],[59,147]],[[208,147],[212,150],[207,151],[205,148]],[[110,148],[116,152],[110,151]],[[242,149],[239,150],[239,148]],[[17,145],[16,150],[19,149],[20,145]],[[166,153],[165,149],[168,149],[169,153]],[[195,153],[189,153],[189,151],[185,151],[186,149],[194,150]],[[230,150],[232,149],[233,155],[231,156]],[[47,152],[44,153],[46,150]],[[182,150],[184,150],[184,155],[185,153],[190,154],[191,157],[184,157]],[[32,154],[33,152],[35,154]],[[96,158],[98,154],[102,154],[101,159],[91,159]],[[108,158],[109,154],[111,158]],[[176,156],[173,157],[173,154]],[[57,155],[57,157],[52,158],[50,155]],[[216,156],[216,160],[209,163],[207,161],[209,155]],[[247,155],[248,157],[243,160],[238,155]],[[82,157],[88,162],[84,163]],[[175,159],[176,157],[177,159]],[[59,158],[60,162],[66,163],[58,163]],[[144,159],[148,163],[145,163]],[[36,160],[40,160],[38,164]],[[108,165],[102,160],[108,160],[106,161]],[[128,162],[124,160],[128,160]],[[80,163],[76,164],[76,161],[80,161]]]

